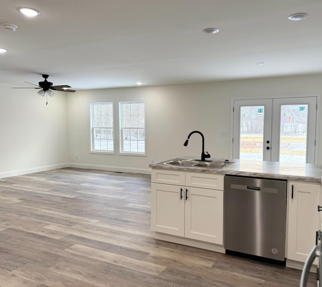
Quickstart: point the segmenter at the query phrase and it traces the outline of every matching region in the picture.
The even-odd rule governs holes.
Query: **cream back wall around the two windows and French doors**
[[[219,135],[230,132],[232,98],[311,93],[322,93],[322,75],[77,91],[67,95],[68,161],[79,167],[148,172],[152,160],[199,158],[199,135],[193,135],[189,145],[183,146],[193,130],[204,134],[205,150],[212,157],[229,157],[230,138]],[[137,99],[146,100],[147,156],[90,153],[90,102]],[[322,141],[319,142],[322,163]]]

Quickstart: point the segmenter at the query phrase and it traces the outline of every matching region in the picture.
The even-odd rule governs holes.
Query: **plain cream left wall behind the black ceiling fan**
[[[0,84],[0,177],[67,163],[66,95]]]

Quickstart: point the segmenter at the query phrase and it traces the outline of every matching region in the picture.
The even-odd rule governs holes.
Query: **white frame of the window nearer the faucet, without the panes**
[[[123,104],[144,104],[144,152],[139,152],[139,151],[124,151],[124,146],[123,146],[123,111],[122,111],[122,105]],[[145,100],[125,100],[125,101],[118,101],[118,121],[119,121],[119,129],[118,129],[118,148],[119,151],[118,153],[120,155],[138,155],[138,156],[146,156],[146,101]],[[131,127],[130,127],[131,128]],[[133,127],[137,128],[138,127]]]

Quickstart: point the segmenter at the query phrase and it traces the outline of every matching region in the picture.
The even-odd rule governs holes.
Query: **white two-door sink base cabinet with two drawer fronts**
[[[151,178],[152,230],[223,244],[223,175],[152,170]]]

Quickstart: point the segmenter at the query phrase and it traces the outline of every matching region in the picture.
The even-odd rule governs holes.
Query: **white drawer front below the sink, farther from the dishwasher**
[[[185,172],[153,169],[151,171],[151,180],[156,183],[185,185]]]

